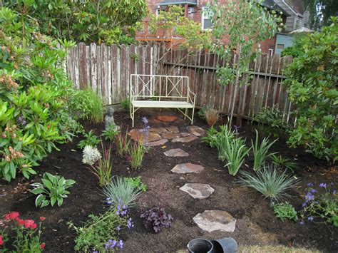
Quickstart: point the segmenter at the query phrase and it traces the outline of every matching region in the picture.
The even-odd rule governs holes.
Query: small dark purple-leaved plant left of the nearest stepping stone
[[[163,207],[154,207],[148,211],[142,212],[140,215],[143,218],[145,228],[152,227],[155,233],[161,232],[164,228],[171,227],[173,217],[167,214]]]

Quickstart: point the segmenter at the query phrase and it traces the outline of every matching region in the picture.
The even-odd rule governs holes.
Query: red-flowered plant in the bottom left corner
[[[11,230],[14,233],[10,233],[12,237],[7,237],[5,231],[0,231],[0,246],[4,242],[11,242],[11,247],[15,249],[15,252],[42,252],[45,244],[40,242],[42,233],[42,222],[45,217],[40,217],[39,226],[34,220],[22,220],[19,212],[10,212],[4,215],[5,222],[11,222],[13,227]],[[2,247],[1,252],[6,252],[6,244]]]

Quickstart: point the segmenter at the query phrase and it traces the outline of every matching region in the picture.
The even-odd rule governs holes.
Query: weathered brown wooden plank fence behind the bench
[[[237,87],[235,115],[252,118],[263,108],[277,106],[289,121],[292,104],[281,81],[285,78],[282,70],[291,61],[290,57],[261,55],[250,63],[252,78],[247,85]],[[93,88],[102,95],[106,105],[128,98],[132,73],[179,75],[189,76],[197,106],[210,105],[222,113],[230,113],[235,87],[220,85],[216,70],[222,64],[219,56],[208,51],[168,51],[156,44],[86,46],[79,43],[68,51],[66,66],[76,88]]]

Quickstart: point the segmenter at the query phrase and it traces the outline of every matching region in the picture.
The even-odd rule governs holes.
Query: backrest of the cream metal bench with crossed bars
[[[188,100],[188,76],[130,75],[130,99]]]

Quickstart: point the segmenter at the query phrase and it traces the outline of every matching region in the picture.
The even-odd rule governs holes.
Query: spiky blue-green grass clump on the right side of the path
[[[255,174],[241,172],[239,182],[247,187],[252,187],[270,198],[271,202],[280,202],[284,197],[289,197],[287,190],[297,186],[298,180],[281,172],[275,165],[269,165],[258,170]]]

